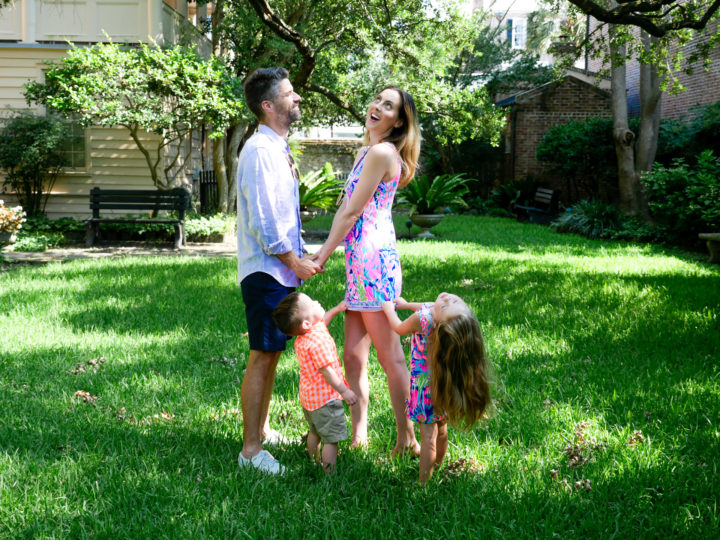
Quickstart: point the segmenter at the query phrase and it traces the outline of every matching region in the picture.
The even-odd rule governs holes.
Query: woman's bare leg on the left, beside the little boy
[[[358,397],[357,403],[350,407],[350,421],[352,424],[351,448],[365,445],[368,438],[370,387],[368,384],[367,361],[369,354],[370,336],[365,330],[362,315],[358,311],[346,311],[345,348],[343,353],[345,378],[350,385],[350,389]]]

